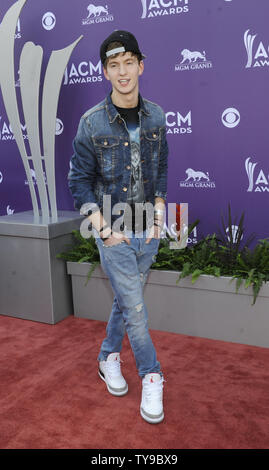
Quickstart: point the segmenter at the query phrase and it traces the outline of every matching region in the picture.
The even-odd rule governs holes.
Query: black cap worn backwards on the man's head
[[[120,42],[122,47],[117,47],[107,52],[107,48],[112,42]],[[119,52],[134,52],[135,54],[140,54],[142,59],[146,57],[141,53],[136,38],[132,33],[129,33],[129,31],[115,30],[104,40],[100,47],[102,64],[105,63],[108,57],[118,54]]]

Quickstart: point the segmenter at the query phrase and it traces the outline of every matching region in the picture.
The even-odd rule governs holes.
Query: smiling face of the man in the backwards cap
[[[131,52],[121,52],[115,58],[108,59],[104,75],[111,81],[114,91],[127,95],[138,91],[138,77],[142,75],[144,63],[140,63]]]

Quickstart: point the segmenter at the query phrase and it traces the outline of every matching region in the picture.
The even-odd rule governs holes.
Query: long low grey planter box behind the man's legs
[[[101,266],[85,286],[90,263],[67,263],[74,314],[107,321],[113,291]],[[231,278],[202,275],[195,284],[176,271],[150,270],[144,297],[152,329],[269,347],[269,283],[252,306],[252,288],[235,292]]]

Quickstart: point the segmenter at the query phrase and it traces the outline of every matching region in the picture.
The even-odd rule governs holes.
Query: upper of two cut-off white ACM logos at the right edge
[[[256,45],[256,36],[257,34],[250,34],[249,29],[244,33],[244,44],[247,53],[246,69],[267,67],[269,65],[269,47],[265,46],[262,41]]]

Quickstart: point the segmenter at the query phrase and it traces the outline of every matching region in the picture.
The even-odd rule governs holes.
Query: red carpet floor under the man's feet
[[[269,349],[152,331],[166,383],[165,419],[151,425],[127,338],[129,393],[97,375],[105,325],[0,316],[1,449],[269,448]]]

